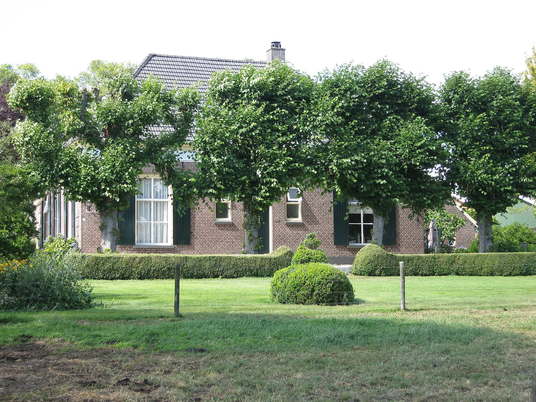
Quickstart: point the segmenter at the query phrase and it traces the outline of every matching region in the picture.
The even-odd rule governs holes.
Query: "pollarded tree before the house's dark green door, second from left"
[[[303,144],[312,80],[286,64],[212,75],[193,147],[207,196],[244,207],[245,252],[258,250],[259,218],[308,172]]]

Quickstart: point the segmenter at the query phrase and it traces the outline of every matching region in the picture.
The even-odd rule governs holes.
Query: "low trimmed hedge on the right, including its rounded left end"
[[[394,255],[377,245],[367,245],[356,254],[352,273],[364,276],[398,276],[399,261],[404,261],[406,275],[422,277],[536,275],[536,252]]]

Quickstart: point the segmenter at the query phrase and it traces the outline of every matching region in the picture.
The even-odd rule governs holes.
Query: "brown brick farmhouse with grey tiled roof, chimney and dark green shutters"
[[[267,62],[276,58],[285,61],[285,49],[279,42],[272,42],[267,50]],[[244,64],[262,68],[266,62],[150,54],[135,76],[143,79],[152,74],[165,80],[169,88],[200,81],[200,91],[204,92],[212,72],[237,71]],[[195,168],[191,148],[183,150],[187,152],[181,156],[182,167]],[[212,211],[202,205],[178,214],[171,204],[172,189],[163,185],[151,166],[144,168],[140,180],[143,195],[132,197],[131,206],[119,222],[118,252],[238,254],[242,251],[241,203],[222,202]],[[370,243],[373,211],[361,209],[352,201],[333,205],[333,196],[322,195],[320,189],[303,192],[299,198],[297,192],[289,189],[286,197],[265,211],[259,230],[261,252],[271,252],[281,245],[295,250],[307,233],[317,232],[322,241],[320,248],[326,251],[331,263],[351,263],[356,252]],[[95,252],[100,246],[100,218],[91,204],[68,202],[62,189],[48,193],[34,204],[40,243],[48,236],[63,234],[75,237],[85,252]],[[349,219],[345,219],[347,210]],[[397,206],[389,214],[384,234],[386,250],[400,254],[425,251],[423,218],[416,216],[410,220],[409,213]]]

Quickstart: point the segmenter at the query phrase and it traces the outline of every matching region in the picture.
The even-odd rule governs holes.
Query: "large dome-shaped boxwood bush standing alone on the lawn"
[[[321,263],[291,265],[276,271],[270,294],[272,301],[283,304],[333,306],[354,300],[354,288],[346,274]]]

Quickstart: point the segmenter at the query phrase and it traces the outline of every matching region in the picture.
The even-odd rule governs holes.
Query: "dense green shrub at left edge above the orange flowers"
[[[38,191],[26,169],[0,165],[0,255],[28,257],[35,250],[33,200]]]

